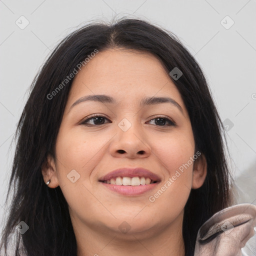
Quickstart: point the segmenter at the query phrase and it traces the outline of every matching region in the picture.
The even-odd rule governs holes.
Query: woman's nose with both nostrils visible
[[[123,129],[120,123],[125,124],[126,127]],[[128,125],[127,120],[120,123],[116,127],[116,135],[109,145],[110,154],[113,157],[132,159],[148,157],[151,149],[141,127],[134,123]],[[127,129],[127,127],[129,128]]]

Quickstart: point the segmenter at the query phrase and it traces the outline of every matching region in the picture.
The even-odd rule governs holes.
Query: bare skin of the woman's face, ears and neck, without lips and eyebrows
[[[106,94],[117,103],[84,101],[71,107],[89,94]],[[140,106],[146,96],[171,97],[182,111],[168,102]],[[106,117],[105,123],[90,119],[91,126],[81,124],[94,113]],[[159,125],[154,119],[159,115],[176,125]],[[127,131],[118,126],[123,118],[131,123]],[[48,155],[42,175],[45,182],[51,180],[49,187],[59,185],[64,194],[78,256],[184,255],[183,209],[190,189],[203,184],[206,160],[201,154],[154,202],[149,201],[195,152],[186,107],[158,58],[121,48],[99,51],[73,80],[55,152],[55,158]],[[161,182],[141,195],[126,196],[98,181],[120,167],[149,169]],[[67,178],[72,169],[80,175],[74,183]],[[123,221],[130,226],[126,233],[118,228]]]

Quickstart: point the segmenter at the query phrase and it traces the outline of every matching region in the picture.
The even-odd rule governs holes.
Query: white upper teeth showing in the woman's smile
[[[111,178],[110,180],[104,181],[107,184],[113,185],[124,185],[124,186],[139,186],[139,185],[148,185],[151,183],[151,179],[148,177],[116,177]]]

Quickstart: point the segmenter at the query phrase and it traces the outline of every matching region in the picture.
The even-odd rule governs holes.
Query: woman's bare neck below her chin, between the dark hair
[[[182,217],[174,223],[153,227],[143,232],[100,230],[95,226],[72,220],[77,244],[77,256],[184,256]],[[79,228],[77,228],[79,227]]]

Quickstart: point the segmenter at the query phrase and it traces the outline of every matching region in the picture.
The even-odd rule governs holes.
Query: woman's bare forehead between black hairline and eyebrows
[[[130,104],[144,96],[171,96],[182,105],[161,60],[137,50],[107,49],[92,57],[76,74],[67,104],[88,94],[107,94]]]

